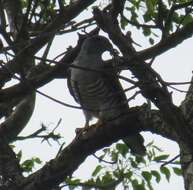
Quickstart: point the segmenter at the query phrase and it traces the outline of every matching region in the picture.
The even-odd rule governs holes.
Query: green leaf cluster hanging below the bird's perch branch
[[[99,164],[90,179],[82,182],[77,178],[68,178],[65,184],[70,190],[115,190],[120,186],[123,189],[153,190],[153,185],[159,183],[163,177],[169,181],[173,173],[181,176],[179,162],[167,165],[165,163],[169,158],[168,154],[164,154],[153,142],[146,147],[147,154],[144,157],[132,155],[124,143],[105,148],[98,153]]]

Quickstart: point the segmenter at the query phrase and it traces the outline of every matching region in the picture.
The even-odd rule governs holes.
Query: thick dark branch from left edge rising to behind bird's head
[[[96,35],[98,34],[98,32],[99,32],[98,28],[96,28],[87,35],[89,36]],[[85,36],[81,35],[78,40],[77,46],[75,48],[70,49],[66,53],[66,55],[58,62],[56,66],[54,67],[46,66],[46,65],[36,66],[35,68],[32,68],[32,70],[36,70],[36,72],[33,74],[33,77],[27,77],[26,81],[24,82],[21,82],[9,88],[0,90],[0,103],[9,101],[10,98],[14,98],[15,96],[17,96],[17,98],[24,97],[27,94],[30,94],[31,92],[33,92],[35,89],[57,78],[58,76],[60,77],[62,76],[63,78],[66,78],[67,68],[69,64],[72,63],[72,61],[77,56],[84,39],[88,37],[87,35]]]

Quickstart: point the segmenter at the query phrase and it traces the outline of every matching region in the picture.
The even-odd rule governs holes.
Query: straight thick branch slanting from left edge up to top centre
[[[79,15],[86,7],[91,5],[95,0],[84,0],[84,1],[76,1],[76,3],[71,4],[70,6],[65,7],[62,12],[58,16],[56,16],[55,20],[50,23],[45,30],[20,51],[19,54],[6,64],[6,68],[8,71],[12,73],[18,72],[21,65],[26,64],[28,62],[28,57],[33,56],[40,48],[42,48],[50,39],[53,38],[55,33],[65,26],[71,19],[75,18]],[[0,70],[0,81],[7,81],[12,75],[5,70]]]

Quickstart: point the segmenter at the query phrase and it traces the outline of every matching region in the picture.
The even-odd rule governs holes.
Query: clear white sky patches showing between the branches
[[[135,33],[133,35],[135,35]],[[136,37],[136,42],[141,43],[140,35]],[[50,57],[55,57],[56,55],[60,54],[65,50],[66,47],[75,44],[76,41],[76,34],[69,34],[62,38],[56,39],[53,46],[54,48],[52,48],[50,52]],[[145,41],[142,43],[144,46],[146,45]],[[178,47],[156,58],[154,68],[166,81],[189,81],[193,70],[192,49],[193,39],[191,38],[186,40]],[[187,86],[185,86],[185,89],[187,89]],[[40,90],[58,100],[75,104],[74,100],[68,93],[66,80],[54,80]],[[173,98],[174,102],[179,105],[181,100],[184,98],[184,94],[174,91]],[[137,98],[131,103],[131,105],[141,104],[141,102],[141,99]],[[63,140],[68,144],[75,136],[75,129],[84,125],[84,117],[81,110],[63,107],[43,96],[37,95],[34,114],[28,124],[28,127],[26,127],[26,129],[22,132],[22,135],[34,132],[40,127],[42,122],[46,124],[50,130],[52,130],[60,118],[62,118],[62,123],[58,128],[58,131],[64,136]],[[162,147],[162,149],[164,149],[167,153],[171,154],[171,157],[178,154],[178,146],[174,142],[161,138],[157,135],[151,135],[150,133],[145,133],[144,136],[146,143],[153,139],[158,146]],[[23,150],[24,159],[36,155],[42,160],[48,161],[51,158],[54,158],[58,151],[58,147],[55,143],[53,143],[52,147],[47,145],[45,142],[40,144],[40,142],[36,140],[27,140],[16,144],[17,150]],[[89,157],[86,162],[81,165],[77,174],[79,174],[81,177],[88,176],[91,169],[94,168],[93,160],[94,158]],[[175,175],[173,175],[171,178],[170,183],[168,183],[166,180],[162,180],[161,184],[155,184],[154,187],[155,190],[184,189],[182,179],[180,177],[176,177]]]

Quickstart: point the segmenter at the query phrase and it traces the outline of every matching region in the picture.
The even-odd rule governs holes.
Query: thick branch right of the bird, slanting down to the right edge
[[[118,21],[112,20],[108,12],[102,12],[99,9],[94,10],[94,15],[98,25],[108,33],[112,41],[119,47],[124,58],[128,58],[128,69],[139,80],[138,85],[142,95],[160,109],[163,118],[169,125],[175,126],[173,130],[178,133],[180,139],[192,146],[193,143],[189,140],[192,139],[191,129],[181,110],[173,104],[171,95],[159,74],[140,58],[129,62],[129,58],[137,56],[137,53],[130,46],[127,37],[121,32]]]

